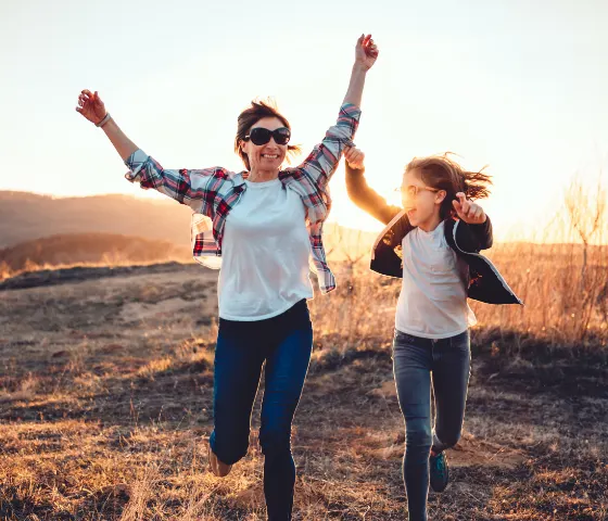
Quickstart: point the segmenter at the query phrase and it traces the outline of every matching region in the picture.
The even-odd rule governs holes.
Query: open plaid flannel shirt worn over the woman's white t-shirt
[[[304,162],[279,171],[288,190],[294,190],[306,207],[306,228],[312,246],[313,266],[319,289],[327,293],[335,289],[335,279],[327,265],[322,244],[322,225],[331,208],[328,182],[335,171],[346,145],[358,126],[360,110],[351,103],[340,107],[335,125],[329,128]],[[192,208],[191,242],[194,259],[207,267],[221,266],[224,226],[230,209],[246,190],[246,171],[232,173],[221,167],[200,170],[165,169],[143,151],[137,150],[126,161],[125,177],[141,188],[153,188]]]

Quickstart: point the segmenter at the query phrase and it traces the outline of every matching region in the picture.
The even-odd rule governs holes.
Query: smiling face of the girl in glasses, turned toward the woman
[[[445,190],[438,190],[425,183],[416,169],[407,170],[403,175],[401,196],[413,226],[422,225],[423,228],[426,224],[441,220],[440,208],[445,195]]]

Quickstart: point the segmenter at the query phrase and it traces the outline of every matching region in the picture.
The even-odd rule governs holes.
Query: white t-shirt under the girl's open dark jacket
[[[445,339],[477,323],[467,302],[468,266],[449,247],[442,221],[433,231],[414,228],[402,242],[403,283],[395,328]]]

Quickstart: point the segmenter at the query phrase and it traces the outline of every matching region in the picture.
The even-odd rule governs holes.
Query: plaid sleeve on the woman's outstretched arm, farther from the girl
[[[195,213],[212,218],[215,194],[221,182],[229,178],[229,173],[220,167],[201,170],[165,169],[142,150],[134,152],[125,164],[129,168],[125,178],[130,182],[139,182],[145,190],[153,188],[190,206]]]

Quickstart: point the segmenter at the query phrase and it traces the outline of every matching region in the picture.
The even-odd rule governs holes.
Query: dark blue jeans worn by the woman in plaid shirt
[[[291,422],[312,351],[313,326],[306,301],[266,320],[219,319],[214,370],[215,428],[210,444],[225,463],[236,463],[245,456],[251,412],[266,363],[259,445],[270,521],[291,519],[295,484]]]

